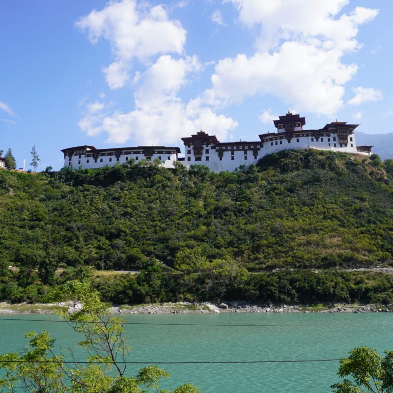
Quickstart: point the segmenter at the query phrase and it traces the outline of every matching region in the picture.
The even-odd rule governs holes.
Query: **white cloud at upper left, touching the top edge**
[[[110,42],[115,61],[103,71],[111,88],[127,82],[134,58],[144,61],[160,53],[181,54],[186,40],[186,30],[168,19],[163,6],[142,9],[136,0],[112,0],[101,11],[93,10],[81,18],[76,26],[88,32],[92,43],[101,37]]]

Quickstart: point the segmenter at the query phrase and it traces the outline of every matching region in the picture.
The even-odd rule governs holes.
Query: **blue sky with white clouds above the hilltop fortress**
[[[3,0],[0,149],[258,140],[290,110],[393,132],[393,0]]]

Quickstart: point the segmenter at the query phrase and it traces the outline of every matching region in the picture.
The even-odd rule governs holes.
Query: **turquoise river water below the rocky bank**
[[[48,315],[1,316],[1,319],[55,319]],[[341,358],[360,345],[380,354],[393,349],[393,313],[359,314],[162,314],[126,315],[129,322],[192,324],[275,324],[285,326],[165,326],[127,325],[132,342],[129,361],[255,361]],[[300,327],[294,325],[317,325]],[[330,325],[330,326],[321,326]],[[340,326],[338,326],[340,325]],[[343,327],[342,325],[345,325]],[[356,326],[356,325],[367,325]],[[75,349],[79,335],[64,323],[0,320],[0,353],[18,352],[26,346],[25,333],[48,330],[56,346]],[[135,375],[143,365],[129,365]],[[162,365],[172,374],[165,387],[194,383],[203,393],[331,392],[338,362],[268,364]]]

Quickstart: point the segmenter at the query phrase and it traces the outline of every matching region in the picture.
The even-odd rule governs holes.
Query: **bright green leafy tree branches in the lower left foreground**
[[[130,350],[124,340],[123,319],[109,313],[108,305],[101,302],[97,291],[89,284],[69,281],[61,287],[58,296],[73,297],[82,304],[79,311],[70,314],[59,309],[69,325],[84,335],[82,346],[90,364],[70,366],[64,354],[56,354],[55,339],[47,331],[30,332],[30,348],[23,355],[0,355],[0,392],[18,393],[199,393],[193,385],[182,385],[173,391],[162,390],[160,383],[170,374],[151,365],[140,369],[136,377],[126,377],[127,355]],[[74,359],[69,356],[67,360]]]

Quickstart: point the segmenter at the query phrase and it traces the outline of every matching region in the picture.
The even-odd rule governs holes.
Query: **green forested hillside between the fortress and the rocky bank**
[[[92,279],[122,303],[386,298],[389,277],[337,267],[393,264],[392,175],[392,160],[315,150],[282,151],[220,174],[158,163],[2,170],[0,296],[42,300],[91,266],[141,270],[137,278]],[[322,274],[331,285],[321,293],[299,287],[311,278],[321,285]],[[361,293],[349,283],[354,291],[363,285]]]

